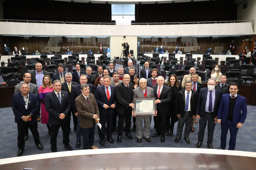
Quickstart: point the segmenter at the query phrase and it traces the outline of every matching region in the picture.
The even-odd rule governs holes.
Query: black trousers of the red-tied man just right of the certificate
[[[165,136],[166,132],[166,119],[167,119],[167,112],[166,113],[157,113],[157,116],[154,116],[155,126],[156,126],[156,133],[161,133],[162,136]]]

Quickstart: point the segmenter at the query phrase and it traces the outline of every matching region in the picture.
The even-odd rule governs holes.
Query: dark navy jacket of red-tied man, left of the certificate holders
[[[107,104],[108,106],[110,106],[112,104],[115,104],[115,105],[117,104],[115,86],[110,85],[111,96],[109,98],[109,101],[107,99],[107,95],[104,88],[105,88],[104,85],[98,86],[94,93],[94,96],[96,98],[101,116],[106,115],[107,111],[109,111],[109,115],[112,116],[115,113],[115,108],[113,109],[109,107],[108,109],[105,109],[103,105]]]

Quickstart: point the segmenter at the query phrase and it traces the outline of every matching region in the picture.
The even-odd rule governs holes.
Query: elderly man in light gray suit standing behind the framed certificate
[[[133,98],[136,97],[155,97],[154,90],[151,87],[147,86],[147,80],[145,78],[141,78],[139,80],[139,86],[138,88],[135,88],[133,90]],[[136,116],[134,114],[134,111],[132,111],[132,115]],[[148,142],[151,142],[150,139],[150,118],[151,116],[136,116],[136,137],[137,142],[141,143],[142,138],[142,123],[144,119],[144,137]]]

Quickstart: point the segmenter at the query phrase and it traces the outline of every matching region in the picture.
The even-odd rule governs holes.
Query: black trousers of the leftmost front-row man
[[[40,139],[39,139],[39,132],[37,130],[37,122],[36,125],[28,125],[28,122],[25,123],[17,123],[18,127],[18,148],[19,149],[24,149],[25,147],[25,140],[24,140],[24,134],[26,133],[27,129],[29,128],[33,137],[36,145],[40,144]]]

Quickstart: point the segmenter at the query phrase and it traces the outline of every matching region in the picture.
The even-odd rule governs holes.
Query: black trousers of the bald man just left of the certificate
[[[124,124],[124,120],[125,120],[125,134],[128,134],[131,132],[131,107],[128,107],[127,109],[125,109],[124,113],[121,114],[119,112],[117,112],[118,114],[118,124],[117,124],[117,135],[118,136],[122,136],[122,130],[123,130],[123,124]]]

